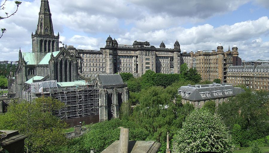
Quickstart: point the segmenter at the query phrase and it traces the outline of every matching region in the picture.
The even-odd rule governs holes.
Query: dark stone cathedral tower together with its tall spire
[[[36,63],[48,53],[59,51],[59,32],[54,35],[51,11],[48,0],[41,0],[38,24],[35,34],[32,33],[32,49]]]

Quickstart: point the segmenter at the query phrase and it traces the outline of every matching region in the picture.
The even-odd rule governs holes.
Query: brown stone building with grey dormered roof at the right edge
[[[227,83],[246,85],[252,90],[269,90],[269,65],[230,66]]]

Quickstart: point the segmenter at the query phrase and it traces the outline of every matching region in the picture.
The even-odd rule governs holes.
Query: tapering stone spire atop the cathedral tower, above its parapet
[[[54,36],[51,20],[51,11],[48,3],[48,0],[41,0],[37,24],[37,34]]]

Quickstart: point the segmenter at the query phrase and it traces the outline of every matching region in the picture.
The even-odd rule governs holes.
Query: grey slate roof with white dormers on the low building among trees
[[[230,93],[232,90],[232,93]],[[209,84],[209,85],[201,85],[201,88],[195,86],[181,86],[178,88],[178,91],[181,95],[181,92],[184,92],[182,99],[190,100],[190,101],[204,101],[210,99],[219,99],[226,98],[230,96],[236,96],[239,93],[245,92],[242,88],[233,87],[232,85],[221,85],[221,84]],[[225,93],[228,91],[228,94]],[[222,94],[214,95],[214,92],[221,92]],[[189,96],[186,96],[186,93],[189,93]],[[205,93],[205,96],[202,97],[201,93]],[[207,93],[210,93],[210,96],[207,96]]]

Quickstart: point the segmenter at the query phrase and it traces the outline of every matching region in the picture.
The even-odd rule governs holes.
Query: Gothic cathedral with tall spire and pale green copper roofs
[[[48,3],[48,0],[41,1],[37,29],[32,33],[32,52],[19,51],[15,77],[9,79],[11,97],[22,98],[32,82],[83,80],[78,76],[80,55],[59,48],[59,32],[54,35]]]

